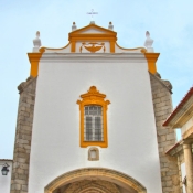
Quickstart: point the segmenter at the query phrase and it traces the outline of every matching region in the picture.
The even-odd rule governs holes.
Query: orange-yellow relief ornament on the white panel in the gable
[[[104,50],[104,53],[106,51],[105,43],[97,43],[97,42],[89,42],[89,43],[82,43],[82,46],[79,47],[79,52],[82,53],[83,47],[85,47],[87,51],[95,53],[99,50]]]

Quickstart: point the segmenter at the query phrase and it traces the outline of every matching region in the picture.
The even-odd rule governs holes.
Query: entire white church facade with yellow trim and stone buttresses
[[[112,23],[77,29],[62,49],[33,41],[30,77],[19,85],[11,193],[180,193],[165,152],[175,131],[172,86],[146,49],[117,44]]]

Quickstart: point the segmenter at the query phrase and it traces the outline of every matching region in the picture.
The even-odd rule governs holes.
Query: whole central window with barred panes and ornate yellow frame
[[[107,144],[107,105],[106,95],[100,94],[92,86],[87,94],[81,95],[77,100],[81,110],[81,147]]]

